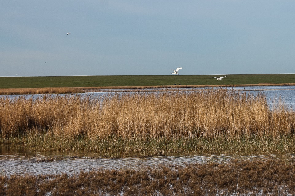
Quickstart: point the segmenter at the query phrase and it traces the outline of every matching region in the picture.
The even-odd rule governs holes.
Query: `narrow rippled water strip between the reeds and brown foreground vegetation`
[[[0,153],[0,172],[5,175],[12,174],[75,174],[77,172],[92,171],[93,169],[140,169],[150,166],[162,165],[185,165],[190,163],[207,163],[209,161],[228,163],[232,160],[260,160],[290,159],[295,154],[288,155],[194,155],[194,156],[160,156],[148,158],[101,158],[89,155],[67,154],[44,154],[44,153],[20,153],[18,151],[5,151]],[[38,160],[45,160],[38,161]],[[49,160],[49,161],[48,161]]]

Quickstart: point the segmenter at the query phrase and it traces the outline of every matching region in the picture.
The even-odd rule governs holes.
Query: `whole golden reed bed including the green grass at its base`
[[[294,111],[227,89],[0,99],[1,143],[102,156],[289,153]]]

